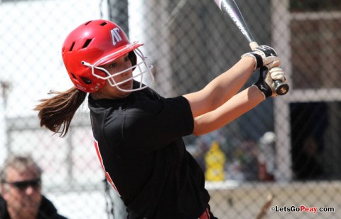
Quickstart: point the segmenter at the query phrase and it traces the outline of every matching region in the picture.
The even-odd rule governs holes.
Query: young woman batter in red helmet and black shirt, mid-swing
[[[40,102],[40,125],[65,136],[89,93],[97,155],[128,218],[215,218],[202,170],[182,137],[218,129],[276,96],[273,80],[285,81],[280,61],[273,48],[260,46],[202,90],[164,98],[141,82],[151,70],[140,46],[110,21],[75,28],[62,50],[75,87]],[[269,73],[237,94],[261,66]]]

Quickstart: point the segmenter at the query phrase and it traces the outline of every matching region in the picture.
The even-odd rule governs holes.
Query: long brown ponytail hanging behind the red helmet
[[[60,133],[60,137],[65,137],[75,112],[87,97],[87,92],[72,87],[65,92],[50,91],[49,94],[55,96],[40,100],[40,104],[33,110],[38,111],[40,127],[44,126],[52,132]]]

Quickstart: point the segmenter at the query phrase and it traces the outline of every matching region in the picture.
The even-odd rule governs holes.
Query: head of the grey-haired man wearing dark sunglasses
[[[11,218],[36,218],[41,195],[41,169],[31,156],[10,156],[0,172],[1,195]]]

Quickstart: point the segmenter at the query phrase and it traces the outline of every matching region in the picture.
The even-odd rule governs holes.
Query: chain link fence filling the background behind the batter
[[[339,218],[341,1],[236,1],[256,41],[280,55],[291,90],[216,132],[185,137],[204,170],[212,141],[226,156],[224,181],[206,183],[212,211],[219,218],[261,218],[265,205],[263,218]],[[87,106],[65,138],[41,129],[32,110],[49,90],[72,86],[63,40],[97,18],[145,43],[156,77],[146,83],[165,97],[201,89],[249,51],[214,1],[1,0],[0,164],[9,154],[32,154],[44,170],[43,192],[68,218],[126,215],[104,180]]]

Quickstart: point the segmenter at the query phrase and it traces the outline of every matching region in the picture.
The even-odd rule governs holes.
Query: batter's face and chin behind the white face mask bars
[[[116,60],[107,63],[106,65],[102,65],[102,68],[105,68],[111,75],[115,73],[119,73],[127,68],[131,67],[131,61],[129,59],[128,53],[126,55],[122,55]],[[133,76],[133,70],[128,70],[125,73],[114,76],[114,80],[116,83],[127,80]],[[129,80],[124,82],[121,85],[117,85],[122,90],[131,90],[133,88],[133,80]],[[92,94],[93,97],[97,98],[123,98],[130,94],[130,92],[124,92],[119,90],[117,87],[112,87],[109,82],[107,82],[104,87],[102,87],[99,91]]]

